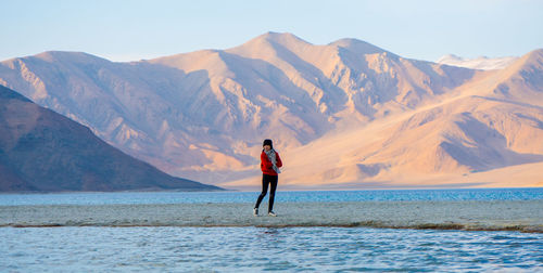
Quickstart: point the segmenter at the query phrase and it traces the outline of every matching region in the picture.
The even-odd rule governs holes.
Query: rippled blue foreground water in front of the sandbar
[[[543,234],[364,227],[0,229],[22,272],[543,271]]]

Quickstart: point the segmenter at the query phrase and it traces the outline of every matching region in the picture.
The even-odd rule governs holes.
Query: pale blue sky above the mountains
[[[543,48],[541,0],[0,0],[0,61],[83,51],[111,61],[228,49],[267,31],[342,38],[404,57],[520,56]]]

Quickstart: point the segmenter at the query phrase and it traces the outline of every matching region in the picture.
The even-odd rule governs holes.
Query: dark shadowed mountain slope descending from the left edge
[[[0,192],[218,190],[171,177],[0,86]]]

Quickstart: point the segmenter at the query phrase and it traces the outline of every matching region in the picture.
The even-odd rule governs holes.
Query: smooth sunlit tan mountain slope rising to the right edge
[[[310,188],[542,186],[542,75],[543,50],[536,50],[506,69],[481,74],[427,106],[288,151],[283,157],[290,167],[282,174],[283,184]],[[239,187],[250,181],[229,185]]]

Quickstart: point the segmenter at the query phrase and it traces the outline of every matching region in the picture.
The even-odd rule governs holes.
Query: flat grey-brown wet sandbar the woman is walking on
[[[368,226],[543,233],[543,200],[0,206],[0,226]]]

